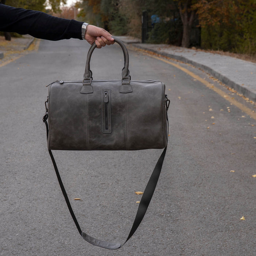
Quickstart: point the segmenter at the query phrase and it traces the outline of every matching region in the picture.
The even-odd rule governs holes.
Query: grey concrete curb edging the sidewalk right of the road
[[[169,54],[169,53],[161,52],[158,50],[154,50],[154,49],[148,48],[146,45],[141,46],[141,45],[133,44],[133,46],[143,49],[143,50],[148,50],[148,51],[151,51],[151,52],[154,52],[154,53],[157,53],[157,54],[160,54],[160,55],[172,58],[172,59],[180,60],[184,63],[191,64],[197,68],[201,68],[204,71],[206,71],[207,73],[209,73],[210,75],[212,75],[215,78],[217,78],[218,80],[220,80],[222,83],[225,83],[227,86],[235,89],[238,93],[243,94],[245,97],[251,99],[252,101],[256,101],[256,93],[254,93],[254,92],[250,91],[248,88],[243,87],[240,84],[232,81],[231,79],[227,78],[226,76],[220,74],[219,72],[215,71],[214,69],[212,69],[206,65],[197,63],[196,61],[187,59],[186,57],[183,57],[183,56],[178,56],[175,54]]]

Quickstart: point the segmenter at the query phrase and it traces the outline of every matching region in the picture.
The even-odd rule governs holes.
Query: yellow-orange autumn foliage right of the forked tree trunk
[[[199,0],[193,7],[204,48],[256,54],[255,0]]]

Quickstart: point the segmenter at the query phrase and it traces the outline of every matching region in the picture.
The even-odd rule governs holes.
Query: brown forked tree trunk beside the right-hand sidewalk
[[[181,46],[186,48],[188,48],[190,45],[190,33],[195,18],[195,10],[188,10],[188,5],[189,7],[191,5],[189,0],[185,1],[184,4],[179,4],[180,16],[183,24],[183,36]]]

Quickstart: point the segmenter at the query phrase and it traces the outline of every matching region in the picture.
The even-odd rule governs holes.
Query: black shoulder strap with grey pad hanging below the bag
[[[169,107],[169,105],[168,105],[168,107]],[[167,115],[167,113],[166,113],[166,115]],[[44,121],[44,123],[46,125],[46,135],[47,135],[47,138],[48,138],[49,128],[48,128],[48,123],[46,121],[47,118],[48,118],[48,114],[46,113],[46,115],[43,118],[43,121]],[[168,126],[169,125],[168,125],[168,117],[167,117],[167,132],[168,132]],[[167,138],[168,138],[168,134],[167,134]],[[153,170],[153,173],[150,176],[148,184],[147,184],[147,186],[146,186],[146,188],[144,190],[144,193],[142,195],[142,199],[140,200],[138,211],[137,211],[135,220],[133,222],[131,231],[130,231],[129,236],[127,237],[126,241],[123,244],[101,241],[101,240],[98,240],[96,238],[93,238],[93,237],[89,236],[88,234],[84,233],[81,230],[81,228],[80,228],[80,226],[78,224],[78,221],[77,221],[77,219],[75,217],[74,211],[73,211],[73,209],[71,207],[71,204],[69,202],[68,195],[67,195],[67,192],[65,191],[65,188],[64,188],[63,182],[61,180],[60,173],[59,173],[58,167],[56,165],[56,162],[54,160],[52,151],[48,150],[49,154],[50,154],[50,157],[52,159],[52,163],[53,163],[53,166],[54,166],[54,169],[55,169],[55,172],[56,172],[59,184],[60,184],[61,191],[62,191],[62,193],[63,193],[63,195],[65,197],[65,201],[67,203],[69,212],[70,212],[70,214],[71,214],[71,216],[73,218],[73,221],[75,222],[75,225],[76,225],[76,227],[77,227],[77,229],[79,231],[79,234],[83,237],[84,240],[86,240],[87,242],[89,242],[89,243],[91,243],[93,245],[97,245],[97,246],[100,246],[100,247],[103,247],[103,248],[106,248],[106,249],[118,249],[118,248],[121,248],[132,237],[132,235],[135,233],[136,229],[139,227],[140,222],[142,222],[142,219],[143,219],[144,215],[146,214],[148,205],[149,205],[149,203],[151,201],[151,198],[152,198],[152,196],[154,194],[155,187],[157,186],[158,178],[159,178],[160,173],[161,173],[161,169],[162,169],[162,165],[163,165],[163,160],[165,158],[166,148],[167,148],[167,145],[164,148],[161,156],[159,157],[159,159],[157,161],[157,164],[155,165],[155,168]]]

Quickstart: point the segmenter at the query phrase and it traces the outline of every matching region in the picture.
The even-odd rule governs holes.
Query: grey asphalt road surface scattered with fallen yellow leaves
[[[132,48],[132,80],[161,80],[171,100],[162,173],[123,248],[109,251],[80,237],[48,155],[42,116],[45,85],[81,80],[88,49],[79,40],[41,41],[38,52],[0,67],[0,255],[256,255],[256,120],[180,69]],[[93,53],[94,79],[120,79],[122,67],[116,44]],[[141,198],[134,192],[144,190],[161,152],[55,151],[82,230],[123,242]]]

